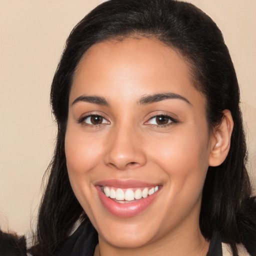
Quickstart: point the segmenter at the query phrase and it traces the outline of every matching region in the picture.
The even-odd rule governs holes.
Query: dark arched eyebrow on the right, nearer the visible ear
[[[154,102],[158,102],[164,99],[181,99],[187,102],[188,104],[192,105],[188,99],[185,97],[172,93],[172,92],[166,92],[166,93],[157,93],[157,94],[152,94],[152,95],[145,95],[141,97],[138,101],[138,104],[143,105],[143,104],[150,104]]]

